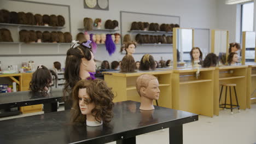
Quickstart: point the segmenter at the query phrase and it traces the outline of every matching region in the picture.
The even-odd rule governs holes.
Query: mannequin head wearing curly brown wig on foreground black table
[[[107,87],[101,79],[80,80],[73,89],[73,117],[72,122],[109,123],[113,117],[112,88]]]

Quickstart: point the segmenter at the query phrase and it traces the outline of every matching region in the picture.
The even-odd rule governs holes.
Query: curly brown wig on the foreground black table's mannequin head
[[[72,122],[85,122],[86,116],[82,115],[79,107],[79,89],[86,88],[86,93],[89,95],[90,100],[86,101],[88,104],[94,103],[95,108],[91,110],[92,116],[95,117],[97,122],[109,123],[113,118],[113,99],[114,94],[101,79],[95,80],[80,80],[75,85],[73,90],[73,108]],[[99,90],[100,89],[100,90]],[[86,103],[85,102],[85,103]]]

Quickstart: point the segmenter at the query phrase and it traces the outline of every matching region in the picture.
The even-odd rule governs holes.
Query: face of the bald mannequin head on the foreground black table
[[[158,87],[159,87],[159,82],[157,79],[149,81],[148,87],[142,88],[143,95],[148,99],[158,100],[159,94],[160,94],[160,90]]]

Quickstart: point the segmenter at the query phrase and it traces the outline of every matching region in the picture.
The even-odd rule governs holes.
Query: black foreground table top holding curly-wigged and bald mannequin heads
[[[194,113],[159,106],[141,111],[139,105],[115,103],[112,122],[99,127],[72,125],[69,110],[0,121],[0,143],[107,143],[198,120]]]

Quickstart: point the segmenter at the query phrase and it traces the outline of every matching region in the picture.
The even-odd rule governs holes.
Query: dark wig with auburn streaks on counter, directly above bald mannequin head
[[[141,58],[141,65],[139,65],[139,70],[154,70],[155,69],[155,60],[152,55],[145,54]]]

